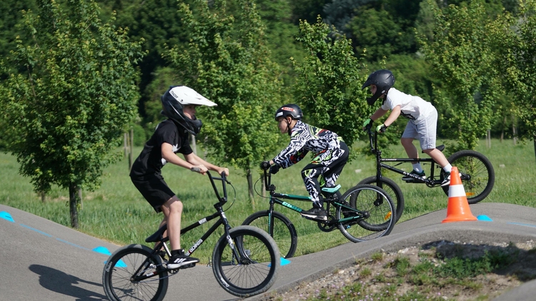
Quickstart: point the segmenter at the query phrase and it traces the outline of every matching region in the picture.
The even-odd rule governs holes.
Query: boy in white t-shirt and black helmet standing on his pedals
[[[424,101],[419,96],[411,96],[392,88],[393,85],[394,76],[389,70],[378,70],[369,75],[369,78],[362,86],[362,88],[370,86],[372,97],[367,98],[367,103],[372,106],[378,98],[382,98],[382,106],[364,121],[363,128],[372,127],[372,122],[384,116],[389,110],[391,110],[391,113],[384,123],[376,127],[376,131],[379,133],[386,131],[397,120],[398,116],[402,115],[408,118],[406,129],[402,133],[402,138],[400,138],[408,157],[419,158],[417,148],[413,145],[413,140],[419,139],[422,151],[430,155],[445,170],[445,180],[441,185],[449,185],[452,165],[450,165],[442,151],[435,148],[437,128],[437,111],[435,107],[432,106],[432,103]],[[425,179],[425,170],[422,170],[420,163],[412,162],[412,165],[413,170],[411,173]],[[402,180],[410,182],[414,178],[405,175]]]

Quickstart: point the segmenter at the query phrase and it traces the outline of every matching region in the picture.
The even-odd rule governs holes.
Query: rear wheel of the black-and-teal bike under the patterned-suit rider
[[[344,237],[354,243],[373,240],[389,235],[394,224],[396,215],[394,204],[389,195],[376,185],[356,185],[342,195],[342,200],[350,203],[352,208],[367,213],[362,220],[349,220],[339,222],[339,230]],[[337,219],[343,218],[342,207],[337,208]],[[355,227],[359,225],[358,227]]]

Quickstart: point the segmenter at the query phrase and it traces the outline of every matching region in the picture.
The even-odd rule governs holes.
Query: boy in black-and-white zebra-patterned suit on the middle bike
[[[272,165],[270,173],[277,173],[280,167],[294,165],[302,160],[307,152],[314,152],[314,158],[302,170],[302,178],[311,196],[313,208],[301,213],[312,220],[327,220],[327,211],[320,194],[319,177],[322,176],[325,187],[333,187],[348,160],[349,151],[346,143],[336,133],[310,126],[302,122],[302,117],[302,109],[295,104],[282,106],[276,111],[275,120],[279,123],[279,131],[289,134],[290,143],[268,162]]]

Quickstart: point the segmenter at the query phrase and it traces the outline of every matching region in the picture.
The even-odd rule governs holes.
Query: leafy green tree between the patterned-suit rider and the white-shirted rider
[[[332,31],[320,16],[313,25],[302,21],[299,29],[298,41],[308,54],[302,62],[294,61],[299,76],[294,96],[310,122],[338,133],[352,146],[373,109],[361,90],[368,71],[354,56],[352,41]]]

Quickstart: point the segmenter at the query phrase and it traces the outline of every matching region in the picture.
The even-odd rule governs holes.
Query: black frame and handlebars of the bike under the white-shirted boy
[[[370,143],[370,151],[376,155],[376,178],[377,178],[377,185],[382,188],[382,168],[385,168],[387,170],[391,170],[394,173],[399,173],[401,175],[407,175],[408,177],[415,178],[417,184],[419,183],[425,183],[429,187],[436,187],[441,185],[442,178],[441,175],[435,176],[435,169],[436,165],[437,168],[441,168],[439,164],[435,162],[432,158],[382,158],[382,151],[378,149],[378,139],[377,139],[377,133],[374,132],[374,136],[372,136],[370,128],[368,129],[369,134],[369,143]],[[444,146],[439,146],[438,149],[442,151]],[[389,165],[384,162],[399,162],[397,165]],[[396,168],[395,166],[398,166],[402,163],[413,163],[413,162],[427,162],[430,163],[430,177],[426,179],[419,178],[418,175],[414,175],[412,173],[408,173],[407,171],[401,170],[399,168]]]

